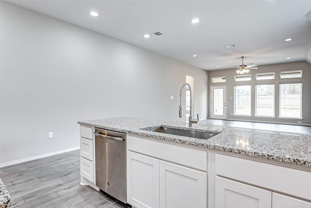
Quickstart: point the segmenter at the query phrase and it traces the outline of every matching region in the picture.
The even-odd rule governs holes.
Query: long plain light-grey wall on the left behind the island
[[[204,70],[3,1],[0,26],[0,164],[79,146],[79,120],[177,120],[186,75],[207,117]]]

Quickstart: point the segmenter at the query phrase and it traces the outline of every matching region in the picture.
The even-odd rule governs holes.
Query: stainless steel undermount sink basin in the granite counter
[[[208,139],[212,136],[217,135],[217,133],[194,132],[190,130],[173,129],[173,128],[167,128],[167,127],[157,127],[154,129],[145,129],[145,130],[150,131],[150,132],[160,132],[160,133],[168,133],[168,134],[179,135],[179,136],[188,136],[188,137],[197,138],[197,139]]]

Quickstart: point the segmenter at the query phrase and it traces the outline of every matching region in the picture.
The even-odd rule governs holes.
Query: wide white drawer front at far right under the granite
[[[216,154],[215,173],[311,200],[311,172]]]

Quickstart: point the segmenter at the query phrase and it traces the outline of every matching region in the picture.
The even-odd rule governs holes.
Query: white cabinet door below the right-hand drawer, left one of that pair
[[[215,177],[216,208],[271,208],[272,192]]]

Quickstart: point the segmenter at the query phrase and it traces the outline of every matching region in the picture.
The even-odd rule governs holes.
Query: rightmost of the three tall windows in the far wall
[[[279,117],[301,118],[302,83],[280,84]]]

